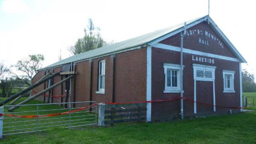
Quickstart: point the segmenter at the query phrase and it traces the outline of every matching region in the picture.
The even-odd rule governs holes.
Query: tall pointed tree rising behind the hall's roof
[[[74,46],[68,48],[68,51],[72,55],[108,45],[108,43],[101,37],[99,27],[95,28],[91,18],[88,19],[88,23],[87,29],[84,29],[84,37],[79,38]]]

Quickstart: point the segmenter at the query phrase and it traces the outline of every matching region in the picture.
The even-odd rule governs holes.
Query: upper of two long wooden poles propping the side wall
[[[16,93],[16,94],[14,94],[13,96],[11,96],[11,97],[5,99],[4,101],[2,101],[2,103],[0,103],[0,106],[6,104],[6,103],[8,103],[9,101],[12,101],[14,98],[16,98],[16,97],[18,97],[18,96],[20,96],[20,95],[22,95],[22,94],[24,94],[24,93],[26,93],[26,92],[32,90],[33,88],[35,88],[35,87],[39,86],[40,84],[46,82],[48,79],[51,79],[52,77],[55,77],[56,75],[59,75],[59,72],[58,72],[58,73],[53,73],[53,74],[50,75],[49,77],[46,77],[45,79],[42,79],[41,81],[39,81],[39,82],[33,84],[32,86],[30,86],[30,87],[28,87],[28,88],[26,88],[26,89],[24,89],[24,90],[22,90],[22,91],[20,91],[20,92],[18,92],[18,93]]]

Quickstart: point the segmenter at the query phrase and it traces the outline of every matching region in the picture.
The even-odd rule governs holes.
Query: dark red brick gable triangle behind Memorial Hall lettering
[[[216,37],[216,39],[220,39],[220,37],[213,31],[212,28],[208,25],[207,22],[201,22],[195,26],[192,26],[191,28],[187,29],[187,31],[194,31],[194,30],[202,30],[202,35],[198,35],[197,32],[194,32],[194,34],[185,36],[183,39],[183,46],[184,48],[191,49],[191,50],[197,50],[201,52],[207,52],[211,54],[218,54],[223,56],[229,56],[235,58],[236,56],[229,50],[228,46],[223,43],[224,41],[221,39],[221,42],[223,43],[223,48],[219,45],[218,41],[214,41],[211,38],[205,36],[205,31],[208,31],[212,35]],[[209,45],[204,45],[202,43],[199,43],[198,38],[202,38],[204,40],[208,40]],[[180,47],[180,33],[169,37],[160,43],[177,46]]]

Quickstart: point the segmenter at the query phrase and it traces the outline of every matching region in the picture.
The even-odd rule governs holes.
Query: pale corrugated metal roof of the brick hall
[[[190,21],[187,22],[187,24],[190,24],[192,22],[196,22],[197,20],[200,20],[204,17],[206,17],[206,16],[196,18],[194,20],[190,20]],[[64,60],[56,62],[52,65],[48,65],[47,67],[44,67],[42,69],[57,67],[57,66],[69,63],[69,62],[76,62],[76,61],[89,59],[89,58],[109,54],[109,53],[120,51],[120,50],[125,50],[127,48],[132,48],[132,47],[135,47],[135,46],[141,46],[141,45],[147,44],[150,41],[158,39],[159,37],[167,35],[168,33],[171,33],[172,31],[175,31],[176,29],[179,29],[183,26],[184,26],[184,23],[180,23],[180,24],[177,24],[177,25],[174,25],[174,26],[167,27],[165,29],[161,29],[161,30],[157,30],[157,31],[154,31],[154,32],[151,32],[151,33],[147,33],[145,35],[141,35],[139,37],[134,37],[134,38],[131,38],[131,39],[128,39],[128,40],[125,40],[125,41],[114,43],[112,45],[97,48],[95,50],[90,50],[88,52],[84,52],[84,53],[81,53],[81,54],[71,56],[71,57],[66,58]]]

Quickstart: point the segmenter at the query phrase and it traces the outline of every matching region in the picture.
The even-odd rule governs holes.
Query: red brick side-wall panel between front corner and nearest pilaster
[[[146,100],[146,56],[146,48],[116,54],[116,102]]]

